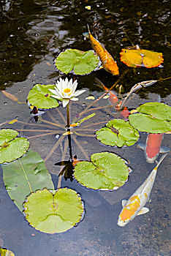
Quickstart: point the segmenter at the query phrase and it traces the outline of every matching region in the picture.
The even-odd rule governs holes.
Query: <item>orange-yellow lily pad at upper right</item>
[[[137,46],[135,50],[122,49],[121,61],[128,67],[158,67],[163,61],[163,53],[142,50]]]

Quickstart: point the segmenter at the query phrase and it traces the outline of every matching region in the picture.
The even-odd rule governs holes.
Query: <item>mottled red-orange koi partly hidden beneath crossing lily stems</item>
[[[97,86],[102,88],[104,91],[109,91],[109,89],[107,89],[107,87],[104,86],[104,84],[98,78],[95,78],[95,82],[96,82]],[[114,108],[116,111],[120,111],[120,116],[122,116],[123,118],[127,118],[129,116],[130,112],[126,108],[126,106],[124,106],[123,110],[121,110],[122,101],[118,103],[118,97],[115,96],[113,91],[109,91],[108,94],[109,94],[110,104],[111,105],[115,104]]]

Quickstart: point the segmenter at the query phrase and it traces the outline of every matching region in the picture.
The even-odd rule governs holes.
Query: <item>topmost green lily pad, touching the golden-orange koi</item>
[[[93,50],[85,52],[77,49],[67,49],[59,54],[55,64],[57,69],[65,74],[73,72],[75,75],[85,75],[98,67],[99,59]]]

